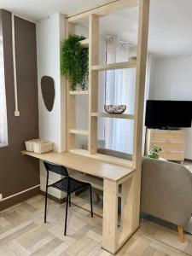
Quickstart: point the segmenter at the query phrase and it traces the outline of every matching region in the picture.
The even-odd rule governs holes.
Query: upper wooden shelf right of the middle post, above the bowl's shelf
[[[132,67],[137,67],[137,61],[125,61],[125,62],[118,62],[118,63],[112,63],[107,65],[91,66],[91,70],[104,71],[104,70],[132,68]]]

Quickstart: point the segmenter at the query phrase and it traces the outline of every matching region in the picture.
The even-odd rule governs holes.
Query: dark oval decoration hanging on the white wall
[[[41,91],[44,98],[44,105],[50,112],[53,109],[55,101],[55,84],[54,79],[44,76],[41,79]]]

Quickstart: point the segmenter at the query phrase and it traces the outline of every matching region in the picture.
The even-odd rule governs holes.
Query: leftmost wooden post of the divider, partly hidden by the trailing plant
[[[75,25],[72,23],[69,23],[68,20],[66,20],[66,38],[68,38],[69,33],[75,33]],[[75,135],[69,132],[69,129],[76,127],[76,115],[75,115],[75,96],[69,95],[70,90],[70,82],[69,79],[67,79],[66,82],[66,96],[67,96],[67,106],[66,106],[66,113],[67,113],[67,129],[66,129],[66,148],[67,151],[70,149],[75,148]],[[64,114],[64,113],[63,113]]]

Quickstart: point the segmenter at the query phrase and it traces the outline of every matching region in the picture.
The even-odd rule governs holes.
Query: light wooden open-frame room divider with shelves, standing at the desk
[[[109,15],[123,9],[139,7],[138,38],[137,38],[137,61],[126,61],[99,65],[99,19],[103,15]],[[70,93],[70,84],[67,81],[67,151],[94,158],[103,165],[108,162],[118,166],[131,168],[133,171],[122,177],[118,182],[104,179],[103,182],[103,225],[102,247],[109,253],[116,253],[125,241],[137,230],[139,226],[140,192],[141,192],[141,165],[143,143],[143,103],[144,86],[148,46],[148,16],[149,0],[115,0],[112,3],[94,9],[84,10],[80,13],[68,15],[66,18],[66,32],[75,33],[75,26],[82,20],[89,20],[89,39],[86,44],[89,47],[89,129],[88,150],[75,148],[75,97]],[[89,42],[89,43],[88,43]],[[137,67],[135,113],[134,115],[123,114],[118,117],[134,120],[133,156],[132,161],[113,158],[108,155],[97,153],[97,121],[99,116],[112,117],[108,113],[98,113],[98,73],[100,71]],[[74,93],[75,94],[75,93]],[[77,93],[78,94],[78,93]],[[116,116],[113,116],[117,118]],[[79,162],[80,164],[80,162]],[[108,166],[109,164],[107,164]],[[91,166],[90,166],[91,168]],[[98,171],[99,172],[99,171]],[[98,173],[99,174],[99,173]],[[115,171],[111,172],[115,175]],[[118,191],[121,185],[121,224],[118,227]]]

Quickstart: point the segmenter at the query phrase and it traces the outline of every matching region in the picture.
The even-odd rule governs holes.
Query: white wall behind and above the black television
[[[153,58],[151,67],[149,99],[192,101],[192,55]],[[185,158],[191,160],[192,128],[185,130]]]

